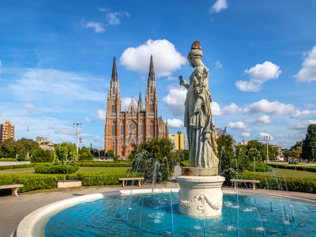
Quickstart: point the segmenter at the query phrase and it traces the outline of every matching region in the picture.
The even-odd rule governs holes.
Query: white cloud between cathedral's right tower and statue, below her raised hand
[[[179,88],[170,88],[169,93],[162,98],[162,102],[169,107],[174,116],[183,116],[186,94],[187,90],[183,86]]]

